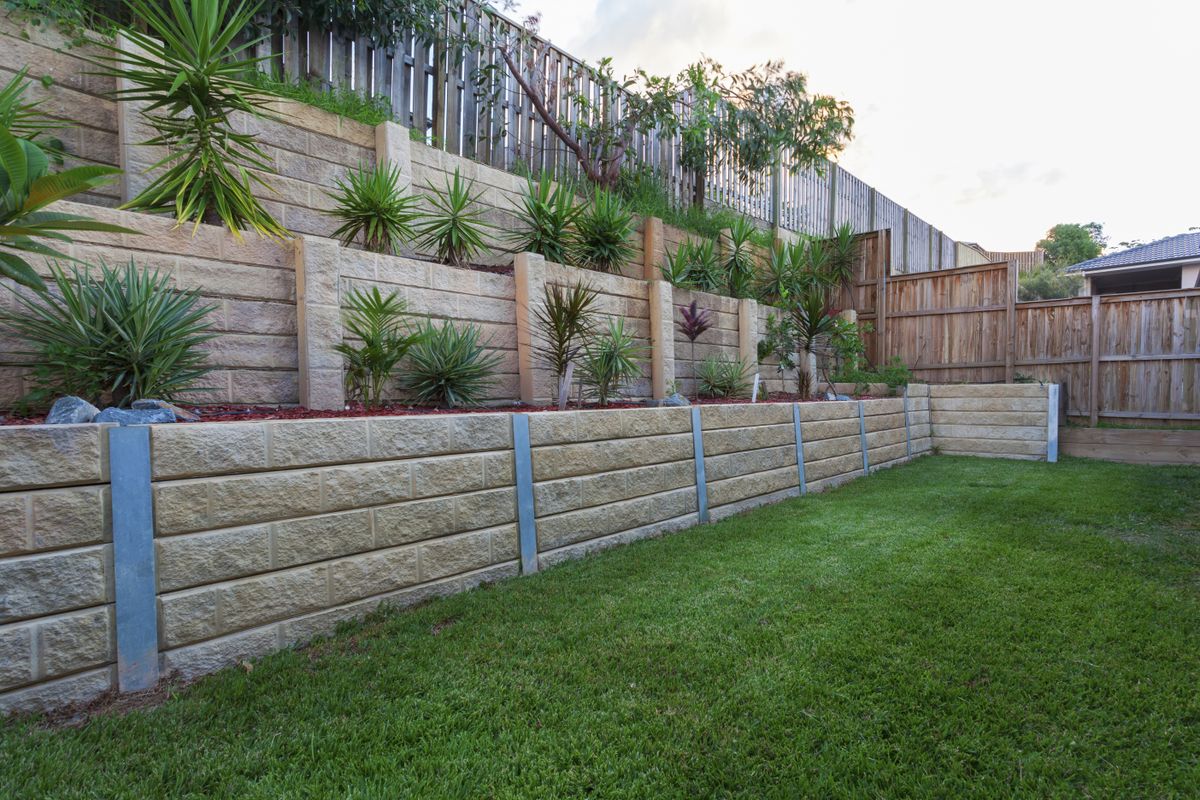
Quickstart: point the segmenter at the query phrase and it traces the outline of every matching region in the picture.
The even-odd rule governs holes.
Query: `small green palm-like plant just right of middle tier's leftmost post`
[[[367,407],[379,405],[396,365],[421,341],[421,333],[406,324],[406,305],[395,291],[384,296],[378,287],[354,289],[346,305],[342,324],[358,339],[334,348],[346,361],[346,396]]]

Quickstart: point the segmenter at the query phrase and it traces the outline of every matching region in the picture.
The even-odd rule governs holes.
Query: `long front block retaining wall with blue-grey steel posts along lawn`
[[[911,386],[862,402],[0,428],[0,712],[196,676],[380,602],[820,491],[929,452],[937,413]]]

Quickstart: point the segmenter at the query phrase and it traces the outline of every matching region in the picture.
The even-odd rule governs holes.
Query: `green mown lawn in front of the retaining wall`
[[[924,458],[0,726],[0,796],[1195,796],[1198,525],[1196,469]]]

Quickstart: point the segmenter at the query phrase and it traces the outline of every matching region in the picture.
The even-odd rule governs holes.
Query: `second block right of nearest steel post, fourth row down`
[[[324,564],[246,578],[220,589],[221,628],[240,631],[330,604]]]

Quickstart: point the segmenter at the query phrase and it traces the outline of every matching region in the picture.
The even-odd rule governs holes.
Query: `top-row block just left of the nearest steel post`
[[[0,428],[0,492],[100,483],[108,476],[98,425]]]

